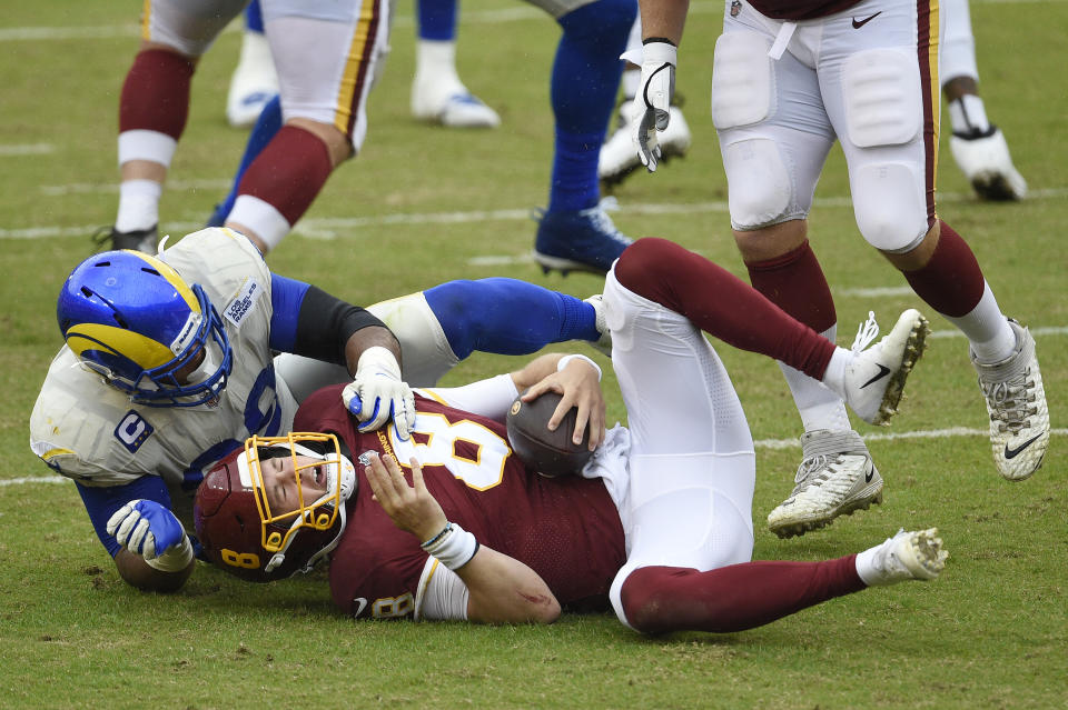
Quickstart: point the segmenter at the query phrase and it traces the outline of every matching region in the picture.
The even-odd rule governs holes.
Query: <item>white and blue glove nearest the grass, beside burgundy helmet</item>
[[[115,511],[108,519],[108,534],[149,566],[177,572],[192,561],[192,544],[185,528],[166,507],[154,500],[137,499]]]

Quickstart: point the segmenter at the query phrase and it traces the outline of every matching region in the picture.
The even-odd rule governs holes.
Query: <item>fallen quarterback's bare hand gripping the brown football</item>
[[[604,439],[604,417],[607,409],[601,391],[601,370],[582,356],[568,356],[560,362],[562,367],[556,372],[531,386],[522,399],[524,402],[533,402],[544,392],[558,392],[562,399],[548,419],[550,431],[556,431],[561,420],[574,407],[578,413],[572,441],[582,443],[583,432],[589,427],[589,447],[593,451]]]

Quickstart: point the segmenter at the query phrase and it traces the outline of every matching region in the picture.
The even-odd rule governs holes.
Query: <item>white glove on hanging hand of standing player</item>
[[[668,108],[675,93],[678,57],[679,49],[664,40],[642,46],[642,78],[634,94],[631,139],[637,157],[650,172],[656,171],[660,161],[656,132],[668,128]]]

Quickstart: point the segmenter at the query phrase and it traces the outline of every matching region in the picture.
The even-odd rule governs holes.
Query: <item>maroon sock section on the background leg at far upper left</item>
[[[122,83],[119,132],[148,130],[181,138],[189,116],[192,70],[192,63],[175,52],[138,52]]]

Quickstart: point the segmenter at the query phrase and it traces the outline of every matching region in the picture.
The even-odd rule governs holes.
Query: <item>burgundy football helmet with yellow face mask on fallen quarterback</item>
[[[260,469],[260,457],[270,453],[290,457],[298,491],[301,471],[322,467],[327,492],[315,501],[299,493],[295,510],[273,511]],[[315,462],[298,464],[298,456]],[[355,489],[356,469],[342,454],[334,434],[251,437],[200,483],[192,509],[197,537],[211,562],[248,581],[269,582],[307,572],[340,540],[345,501]]]

